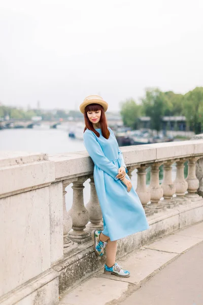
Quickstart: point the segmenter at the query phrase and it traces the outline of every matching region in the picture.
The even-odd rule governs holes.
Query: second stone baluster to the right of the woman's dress
[[[159,185],[159,167],[162,162],[156,162],[151,165],[151,176],[149,191],[151,194],[151,203],[148,205],[149,208],[153,208],[155,212],[164,209],[164,205],[160,201],[163,196],[163,189]]]

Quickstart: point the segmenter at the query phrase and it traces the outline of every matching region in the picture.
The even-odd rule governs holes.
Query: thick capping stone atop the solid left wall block
[[[0,198],[50,185],[55,181],[55,163],[46,154],[15,153],[0,156]]]

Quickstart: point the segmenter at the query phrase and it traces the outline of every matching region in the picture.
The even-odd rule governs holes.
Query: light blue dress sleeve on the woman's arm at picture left
[[[84,145],[88,151],[94,164],[96,164],[101,170],[112,176],[115,180],[118,174],[118,168],[104,155],[100,144],[97,142],[95,135],[90,131],[85,131],[83,134]]]

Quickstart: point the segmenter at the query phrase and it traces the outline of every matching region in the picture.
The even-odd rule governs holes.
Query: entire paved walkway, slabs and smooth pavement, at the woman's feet
[[[64,305],[202,305],[203,222],[134,251],[118,263],[130,278],[103,270],[64,293]]]

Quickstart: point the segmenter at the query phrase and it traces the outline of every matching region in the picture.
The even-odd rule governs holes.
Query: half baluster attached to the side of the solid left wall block
[[[73,241],[67,237],[67,234],[69,231],[71,231],[72,228],[72,219],[71,216],[67,213],[66,206],[65,206],[65,194],[67,193],[65,191],[65,188],[70,185],[71,182],[66,182],[63,180],[63,248],[64,252],[68,250],[67,248],[70,248],[70,246],[73,245]]]

